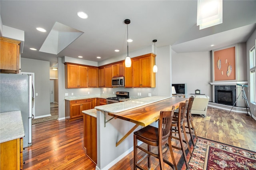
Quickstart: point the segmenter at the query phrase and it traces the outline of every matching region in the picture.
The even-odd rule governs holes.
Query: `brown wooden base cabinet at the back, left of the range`
[[[69,121],[82,119],[82,111],[88,109],[92,109],[92,99],[65,100],[65,116],[70,117]]]

